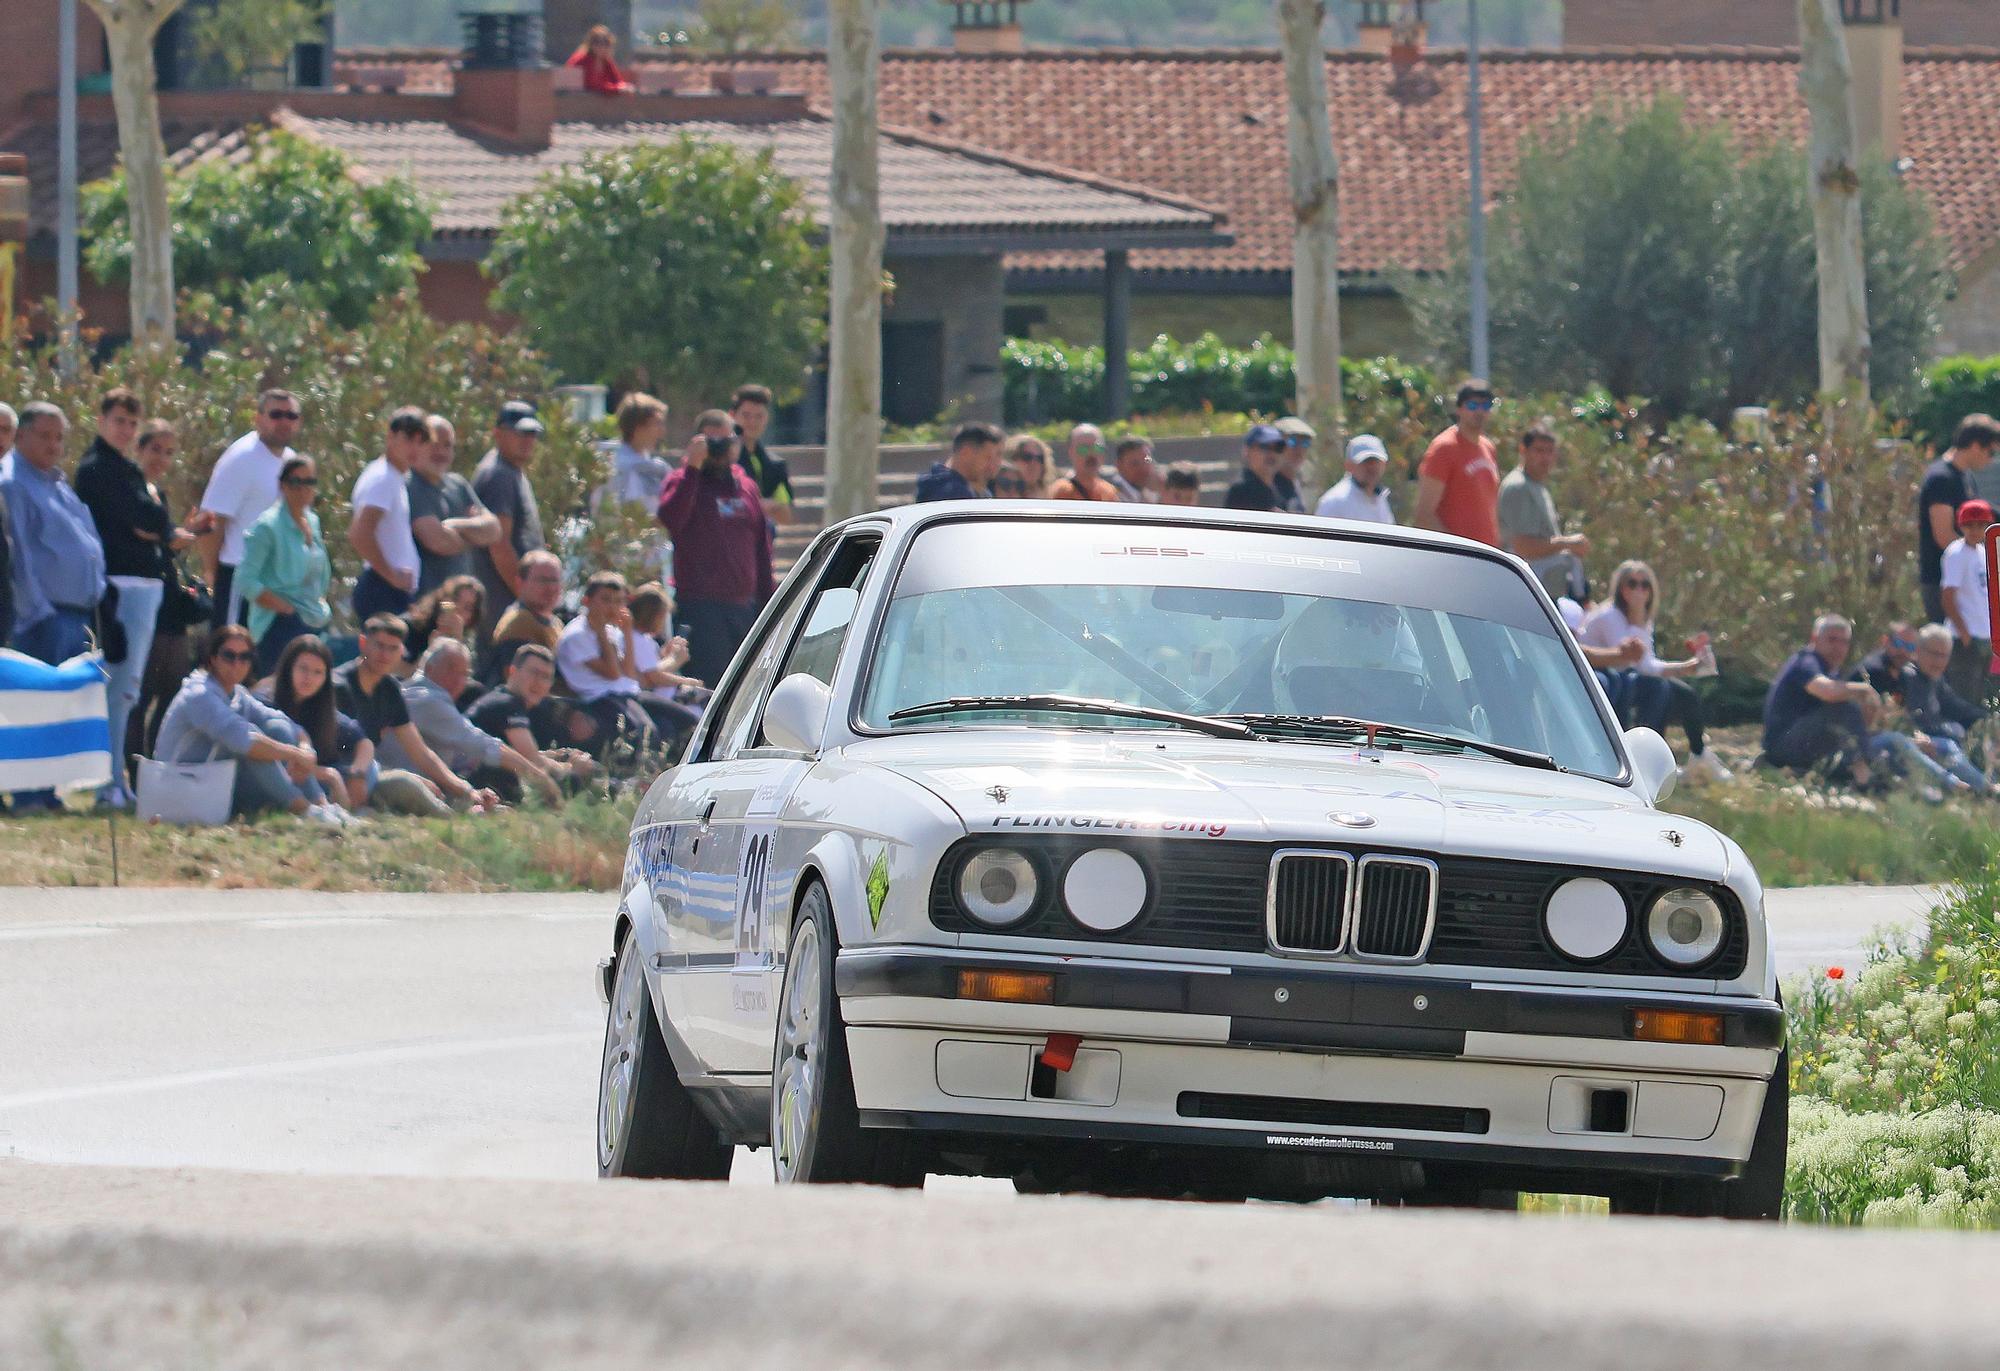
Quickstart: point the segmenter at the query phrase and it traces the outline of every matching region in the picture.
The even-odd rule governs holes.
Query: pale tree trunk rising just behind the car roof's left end
[[[826,522],[876,508],[882,470],[882,176],[876,60],[882,0],[830,0],[834,102],[828,182],[832,290],[826,376]]]

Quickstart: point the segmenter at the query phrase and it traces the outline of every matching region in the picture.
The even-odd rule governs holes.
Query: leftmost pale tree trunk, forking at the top
[[[166,144],[152,40],[182,0],[86,0],[112,56],[112,108],[132,224],[132,338],[174,340],[174,226],[166,208]]]

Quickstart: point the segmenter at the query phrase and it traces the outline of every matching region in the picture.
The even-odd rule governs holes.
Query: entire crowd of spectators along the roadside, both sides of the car
[[[1678,727],[1684,775],[1730,779],[1692,686],[1716,674],[1708,636],[1662,652],[1668,590],[1644,562],[1594,588],[1592,540],[1564,522],[1550,488],[1554,426],[1530,424],[1502,474],[1486,432],[1494,400],[1486,382],[1458,388],[1452,426],[1416,468],[1412,522],[1522,558],[1618,719]],[[532,482],[544,428],[524,400],[494,414],[470,480],[454,470],[450,420],[390,412],[380,454],[344,496],[338,558],[320,522],[320,466],[294,450],[308,416],[288,390],[258,396],[250,432],[216,458],[186,520],[166,498],[178,434],[148,420],[130,390],[102,396],[74,484],[68,416],[42,402],[0,406],[0,642],[52,664],[102,650],[120,755],[104,805],[134,803],[130,763],[142,755],[236,759],[236,811],[330,825],[356,811],[562,803],[638,759],[672,757],[772,596],[776,530],[792,522],[794,496],[764,444],[770,412],[766,388],[742,386],[726,410],[700,412],[670,454],[668,406],[622,400],[594,508],[638,506],[670,540],[650,564],[660,582],[634,588],[612,570],[572,572],[546,546]],[[1314,442],[1300,418],[1254,424],[1222,502],[1304,514]],[[1968,476],[1996,450],[2000,422],[1968,416],[1924,472],[1922,622],[1890,624],[1850,666],[1854,628],[1824,614],[1782,666],[1764,705],[1768,763],[1930,797],[1992,793],[1974,729],[2000,693],[1984,556],[1994,510]],[[1344,456],[1344,474],[1310,508],[1394,524],[1386,444],[1358,434]],[[916,500],[982,498],[1194,506],[1202,474],[1156,462],[1144,438],[1108,442],[1094,424],[1074,426],[1058,456],[1032,434],[968,422],[918,478]],[[352,584],[336,564],[358,568]],[[356,628],[342,634],[344,624]],[[58,801],[42,791],[8,803]]]

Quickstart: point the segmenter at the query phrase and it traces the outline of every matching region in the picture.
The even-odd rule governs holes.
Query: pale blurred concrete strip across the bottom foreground
[[[0,1163],[0,1365],[1992,1365],[1990,1237]]]

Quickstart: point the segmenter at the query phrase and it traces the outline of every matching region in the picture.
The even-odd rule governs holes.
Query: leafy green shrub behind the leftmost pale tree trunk
[[[430,212],[402,178],[362,182],[348,160],[284,130],[252,130],[242,160],[198,162],[168,182],[174,282],[222,306],[286,300],[342,328],[410,290]],[[124,172],[84,188],[86,264],[102,282],[132,274]]]

